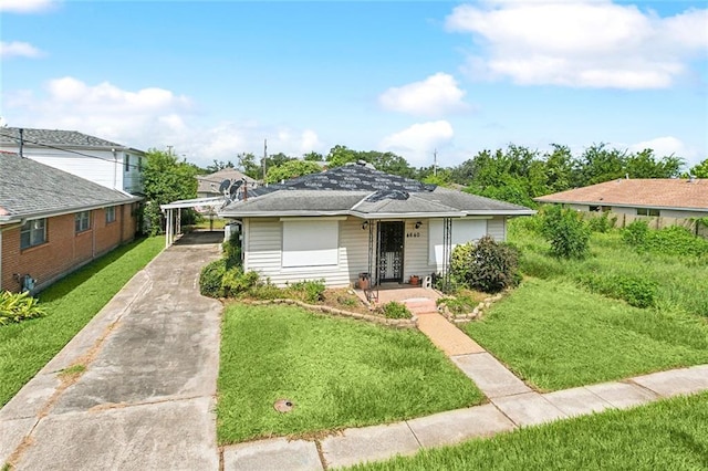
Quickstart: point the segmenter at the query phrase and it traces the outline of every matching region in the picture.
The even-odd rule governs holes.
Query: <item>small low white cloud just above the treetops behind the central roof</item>
[[[414,124],[406,129],[386,136],[381,146],[399,154],[414,167],[430,165],[436,148],[448,145],[455,136],[447,121]]]

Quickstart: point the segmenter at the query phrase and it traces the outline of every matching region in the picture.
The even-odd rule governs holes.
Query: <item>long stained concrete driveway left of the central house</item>
[[[199,295],[222,233],[163,251],[0,411],[0,465],[217,470],[221,304]],[[61,370],[84,365],[75,375]]]

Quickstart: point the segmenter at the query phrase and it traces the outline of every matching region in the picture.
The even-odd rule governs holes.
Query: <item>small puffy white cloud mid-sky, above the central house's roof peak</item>
[[[394,112],[442,116],[449,112],[466,109],[468,106],[462,101],[465,94],[452,75],[438,72],[421,82],[388,88],[378,97],[378,103],[385,109]]]

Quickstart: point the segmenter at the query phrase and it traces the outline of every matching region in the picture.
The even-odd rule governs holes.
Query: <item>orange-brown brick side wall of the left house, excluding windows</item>
[[[127,242],[135,234],[132,205],[116,207],[116,220],[106,223],[105,210],[92,211],[91,229],[75,233],[74,214],[46,220],[46,242],[20,250],[20,228],[2,232],[2,279],[0,289],[19,291],[13,274],[29,274],[43,289],[86,262]],[[126,209],[127,208],[127,209]]]

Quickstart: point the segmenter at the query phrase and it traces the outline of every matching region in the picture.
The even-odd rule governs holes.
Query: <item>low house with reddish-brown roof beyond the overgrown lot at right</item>
[[[612,211],[662,218],[708,217],[708,180],[680,178],[617,179],[534,198],[579,211]]]

